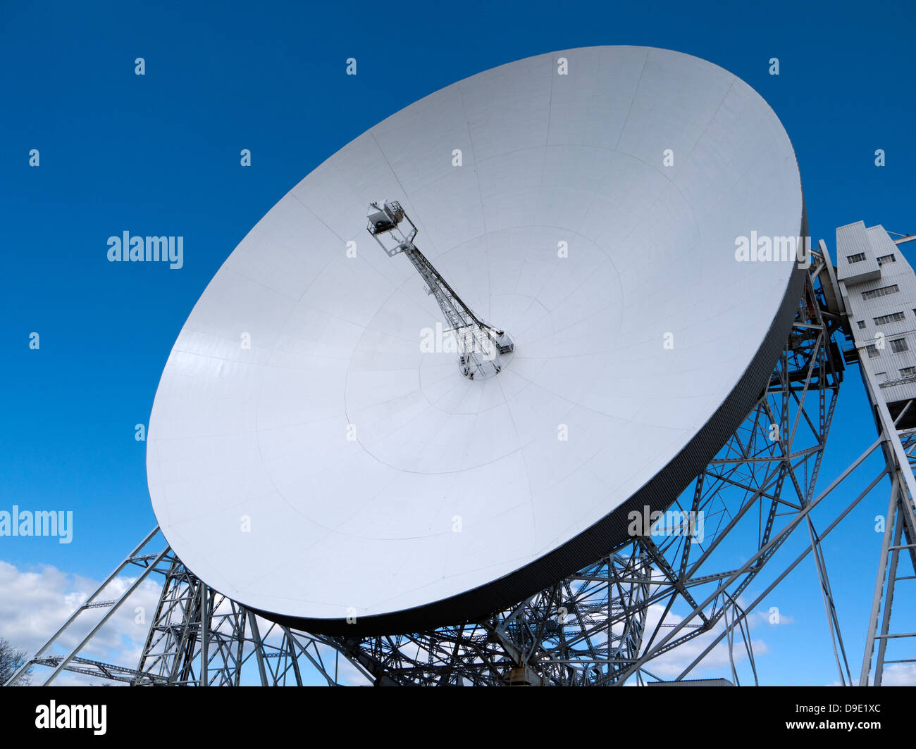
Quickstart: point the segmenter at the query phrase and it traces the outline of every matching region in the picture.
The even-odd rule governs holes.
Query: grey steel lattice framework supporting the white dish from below
[[[756,683],[747,615],[813,552],[838,673],[842,683],[851,684],[821,542],[892,471],[886,468],[878,473],[842,512],[831,513],[834,520],[823,531],[815,529],[812,509],[888,436],[882,435],[821,494],[815,494],[843,363],[833,340],[840,320],[824,311],[819,288],[825,261],[816,253],[813,260],[791,334],[769,385],[664,519],[513,608],[484,621],[412,634],[344,637],[297,632],[267,622],[213,591],[185,569],[168,546],[149,553],[157,541],[164,543],[157,528],[24,668],[50,667],[46,683],[68,670],[133,685],[282,686],[308,683],[317,674],[331,685],[602,686],[661,680],[658,671],[665,668],[666,654],[705,635],[702,652],[679,669],[676,679],[688,676],[725,640],[732,681],[740,683],[736,665],[742,659],[736,656],[740,639],[750,678]],[[910,430],[903,437],[906,454],[916,461],[916,432]],[[889,460],[893,454],[886,450]],[[892,598],[894,583],[900,579],[900,554],[913,558],[912,503],[909,495],[901,494],[900,481],[893,486],[891,508],[897,510],[889,514],[882,549],[864,683],[871,645],[878,643],[876,683],[880,683],[885,648],[895,636],[889,633],[890,599],[881,607],[884,581],[889,581]],[[678,517],[684,522],[678,522]],[[699,518],[702,527],[696,522]],[[746,602],[743,596],[751,584],[799,526],[805,527],[806,548],[780,574],[770,575],[765,590]],[[735,558],[729,550],[735,548],[747,557],[740,567],[728,563]],[[115,577],[137,569],[138,576],[130,579],[119,599],[101,600]],[[162,577],[162,589],[136,668],[80,657],[114,611],[153,575]],[[89,634],[66,655],[46,655],[77,617],[91,610],[104,614]]]

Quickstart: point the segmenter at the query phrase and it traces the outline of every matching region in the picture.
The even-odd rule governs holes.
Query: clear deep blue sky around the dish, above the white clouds
[[[815,240],[833,248],[834,227],[860,219],[916,232],[911,3],[405,3],[388,6],[391,17],[363,2],[3,5],[0,509],[75,517],[70,545],[0,538],[0,559],[20,569],[50,564],[99,579],[155,525],[134,427],[147,422],[207,282],[326,157],[476,72],[599,44],[711,60],[780,116]],[[134,74],[137,57],[145,76]],[[355,77],[344,75],[349,57]],[[769,75],[772,57],[779,76]],[[31,148],[38,168],[28,166]],[[239,166],[242,148],[251,168]],[[106,239],[124,230],[184,236],[184,267],[108,263]],[[822,484],[873,435],[852,369]],[[876,493],[826,544],[854,671],[878,560],[873,517],[886,497]],[[762,635],[762,680],[834,678],[813,581],[805,566],[780,590],[794,624]]]

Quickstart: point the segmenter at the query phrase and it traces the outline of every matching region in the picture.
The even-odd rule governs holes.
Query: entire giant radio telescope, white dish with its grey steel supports
[[[823,539],[885,478],[857,683],[892,681],[914,636],[891,615],[916,559],[914,237],[852,223],[836,267],[823,240],[797,266],[800,233],[775,115],[675,52],[555,52],[389,117],[213,279],[151,419],[160,526],[7,683],[724,685],[736,635],[758,683],[747,617],[813,552],[852,684]],[[821,491],[854,363],[879,438]],[[825,501],[878,448],[884,470]],[[653,527],[671,502],[718,519]],[[81,655],[159,576],[136,668]],[[726,638],[732,678],[686,680]]]

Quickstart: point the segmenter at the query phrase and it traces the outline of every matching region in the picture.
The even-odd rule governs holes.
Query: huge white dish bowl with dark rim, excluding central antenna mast
[[[499,375],[428,350],[442,315],[366,233],[380,200],[512,335]],[[311,172],[203,292],[149,421],[162,531],[213,588],[312,631],[518,601],[670,505],[736,429],[802,283],[737,262],[736,237],[804,223],[779,119],[704,60],[571,49],[432,93]]]

